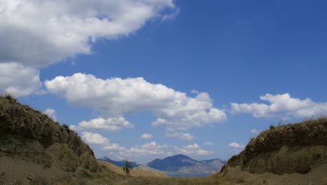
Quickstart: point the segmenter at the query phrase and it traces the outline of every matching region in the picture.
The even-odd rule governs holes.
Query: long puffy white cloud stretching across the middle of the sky
[[[226,114],[213,107],[208,93],[189,97],[143,78],[103,80],[78,73],[45,81],[45,87],[50,93],[66,98],[70,104],[91,107],[110,115],[152,111],[157,116],[152,125],[163,125],[167,130],[188,130],[226,120]]]

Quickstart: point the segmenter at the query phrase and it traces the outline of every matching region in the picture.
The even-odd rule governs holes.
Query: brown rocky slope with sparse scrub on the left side
[[[0,184],[101,172],[92,149],[75,132],[10,96],[0,97],[0,164]]]

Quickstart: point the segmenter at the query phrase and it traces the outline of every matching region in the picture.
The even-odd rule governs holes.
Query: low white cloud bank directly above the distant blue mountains
[[[147,142],[140,146],[132,146],[127,149],[119,144],[108,144],[102,148],[104,151],[115,152],[117,156],[122,158],[127,157],[144,157],[144,156],[172,156],[176,154],[184,154],[188,156],[207,156],[212,154],[212,151],[201,149],[198,144],[189,144],[182,148],[177,146],[170,146],[166,144],[157,144],[157,142]]]

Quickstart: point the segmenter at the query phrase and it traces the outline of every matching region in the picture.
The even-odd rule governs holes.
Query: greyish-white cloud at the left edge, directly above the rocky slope
[[[39,93],[42,87],[38,70],[16,62],[0,63],[0,79],[0,93],[14,97]]]

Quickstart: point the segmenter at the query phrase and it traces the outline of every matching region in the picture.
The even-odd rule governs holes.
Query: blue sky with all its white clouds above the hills
[[[96,157],[228,159],[326,114],[325,1],[108,2],[0,6],[0,92],[74,125]]]

